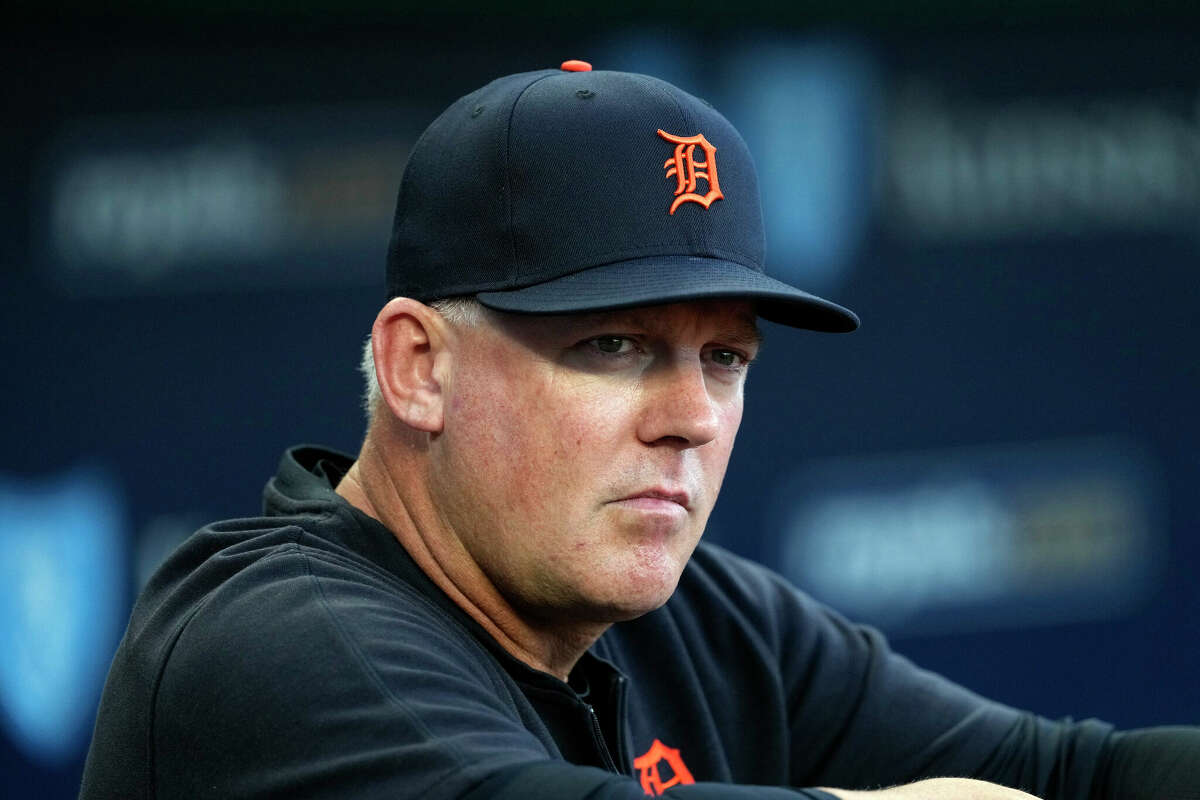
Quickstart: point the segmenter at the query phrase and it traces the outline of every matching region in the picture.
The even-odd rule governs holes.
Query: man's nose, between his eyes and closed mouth
[[[720,432],[720,408],[698,359],[676,360],[646,377],[638,438],[700,447]]]

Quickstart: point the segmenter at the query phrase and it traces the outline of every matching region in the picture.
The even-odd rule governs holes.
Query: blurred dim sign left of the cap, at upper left
[[[48,151],[48,266],[71,293],[382,278],[426,120],[364,109],[86,120]]]

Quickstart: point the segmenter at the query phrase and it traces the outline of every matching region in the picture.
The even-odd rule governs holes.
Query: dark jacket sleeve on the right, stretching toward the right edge
[[[880,788],[972,777],[1046,800],[1090,800],[1112,728],[988,700],[893,652],[877,631],[775,582],[772,625],[802,784]]]

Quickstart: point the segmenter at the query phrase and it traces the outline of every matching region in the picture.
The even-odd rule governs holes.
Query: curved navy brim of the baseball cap
[[[858,327],[848,308],[810,295],[742,264],[716,258],[668,255],[638,258],[508,291],[481,291],[476,299],[497,311],[570,314],[655,306],[692,300],[739,299],[773,323],[845,333]]]

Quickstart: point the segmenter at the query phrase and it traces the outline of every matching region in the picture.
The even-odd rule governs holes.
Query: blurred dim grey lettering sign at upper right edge
[[[1168,231],[1200,218],[1200,100],[892,101],[883,205],[901,239]]]

